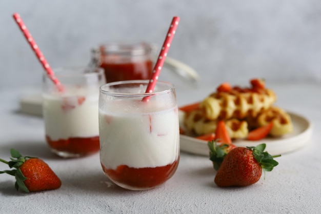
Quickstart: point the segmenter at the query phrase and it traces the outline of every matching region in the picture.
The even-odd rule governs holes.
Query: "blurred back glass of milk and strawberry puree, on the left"
[[[99,87],[106,83],[104,70],[70,67],[53,71],[64,91],[43,76],[43,115],[51,151],[66,158],[98,152],[98,97]]]

